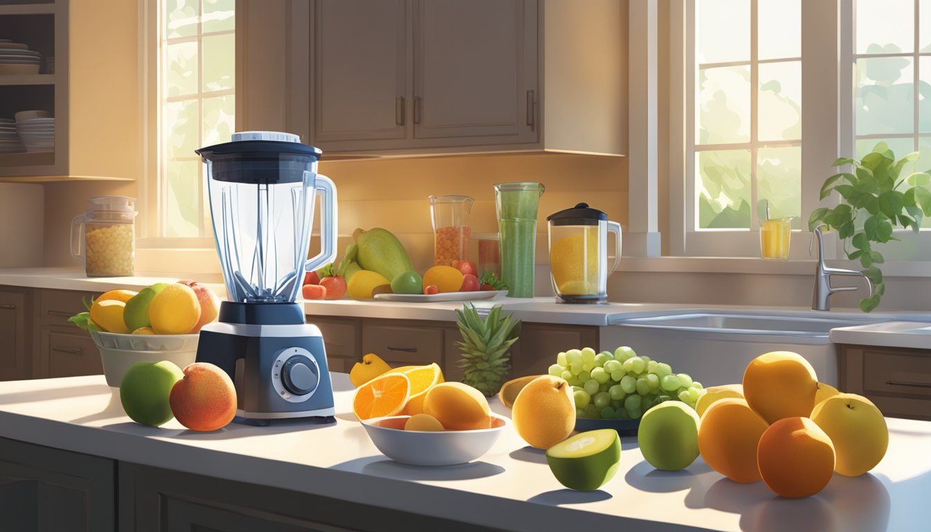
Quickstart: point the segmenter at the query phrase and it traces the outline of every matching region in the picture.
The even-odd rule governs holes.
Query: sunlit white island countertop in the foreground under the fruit
[[[352,387],[334,374],[337,423],[232,424],[198,433],[172,420],[132,423],[102,375],[0,383],[0,437],[306,494],[364,501],[504,530],[906,530],[926,520],[931,422],[887,420],[889,449],[870,473],[834,475],[811,498],[778,498],[762,482],[735,484],[698,458],[655,471],[636,438],[602,489],[563,489],[540,451],[508,428],[470,464],[404,466],[382,456],[350,413]],[[492,410],[508,415],[497,400]]]

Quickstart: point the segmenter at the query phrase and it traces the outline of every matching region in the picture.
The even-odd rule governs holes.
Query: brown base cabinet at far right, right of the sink
[[[931,349],[838,346],[839,389],[888,417],[931,421]]]

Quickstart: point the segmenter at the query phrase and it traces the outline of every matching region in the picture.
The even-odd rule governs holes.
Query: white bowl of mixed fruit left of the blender
[[[172,361],[184,369],[194,363],[200,334],[116,334],[91,332],[101,349],[107,386],[119,388],[129,366],[138,361]]]

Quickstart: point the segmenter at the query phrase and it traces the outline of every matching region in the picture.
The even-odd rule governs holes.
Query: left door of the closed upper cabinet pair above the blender
[[[405,0],[320,0],[314,13],[313,143],[324,152],[403,140],[408,110]],[[381,141],[381,142],[378,142]]]

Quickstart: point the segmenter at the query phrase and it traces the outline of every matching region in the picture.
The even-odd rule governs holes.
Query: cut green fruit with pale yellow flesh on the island
[[[621,461],[621,439],[614,429],[588,430],[546,449],[546,463],[560,484],[582,491],[600,488]]]

